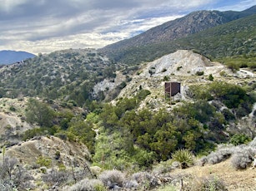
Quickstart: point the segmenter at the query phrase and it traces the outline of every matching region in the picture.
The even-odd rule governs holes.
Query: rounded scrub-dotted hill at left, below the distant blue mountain
[[[0,68],[0,97],[41,96],[81,106],[86,100],[103,100],[109,92],[93,94],[93,86],[113,81],[119,68],[93,49],[56,51]]]

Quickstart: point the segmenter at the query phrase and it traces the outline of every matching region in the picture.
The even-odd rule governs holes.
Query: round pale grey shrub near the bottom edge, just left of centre
[[[106,170],[102,174],[99,174],[99,179],[109,189],[114,187],[123,187],[125,176],[119,170]]]

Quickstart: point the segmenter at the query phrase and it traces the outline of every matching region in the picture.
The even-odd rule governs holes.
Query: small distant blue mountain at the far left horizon
[[[33,58],[34,56],[35,55],[27,51],[0,51],[0,65],[13,64],[18,61]]]

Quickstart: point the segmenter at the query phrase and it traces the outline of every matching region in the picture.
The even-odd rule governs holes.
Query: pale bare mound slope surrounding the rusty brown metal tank
[[[224,76],[221,74],[224,74]],[[155,110],[163,107],[171,108],[172,105],[169,105],[164,96],[165,81],[180,82],[181,97],[186,100],[188,86],[208,83],[209,75],[212,75],[217,81],[245,85],[253,83],[253,79],[256,77],[250,71],[244,73],[243,70],[240,70],[233,73],[226,66],[209,61],[208,58],[193,51],[179,50],[162,56],[155,61],[145,63],[143,68],[133,76],[133,80],[123,88],[118,98],[133,97],[141,88],[151,92],[150,96],[143,100],[141,107],[149,107]]]

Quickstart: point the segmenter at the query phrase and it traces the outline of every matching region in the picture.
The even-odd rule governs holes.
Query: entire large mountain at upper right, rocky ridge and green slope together
[[[249,11],[252,14],[255,8],[248,10],[252,10]],[[255,15],[231,19],[233,13],[193,12],[100,51],[128,65],[153,61],[180,49],[197,50],[211,58],[254,54]],[[190,22],[197,24],[191,25]],[[177,29],[176,25],[181,29]],[[154,40],[159,38],[161,40]]]

